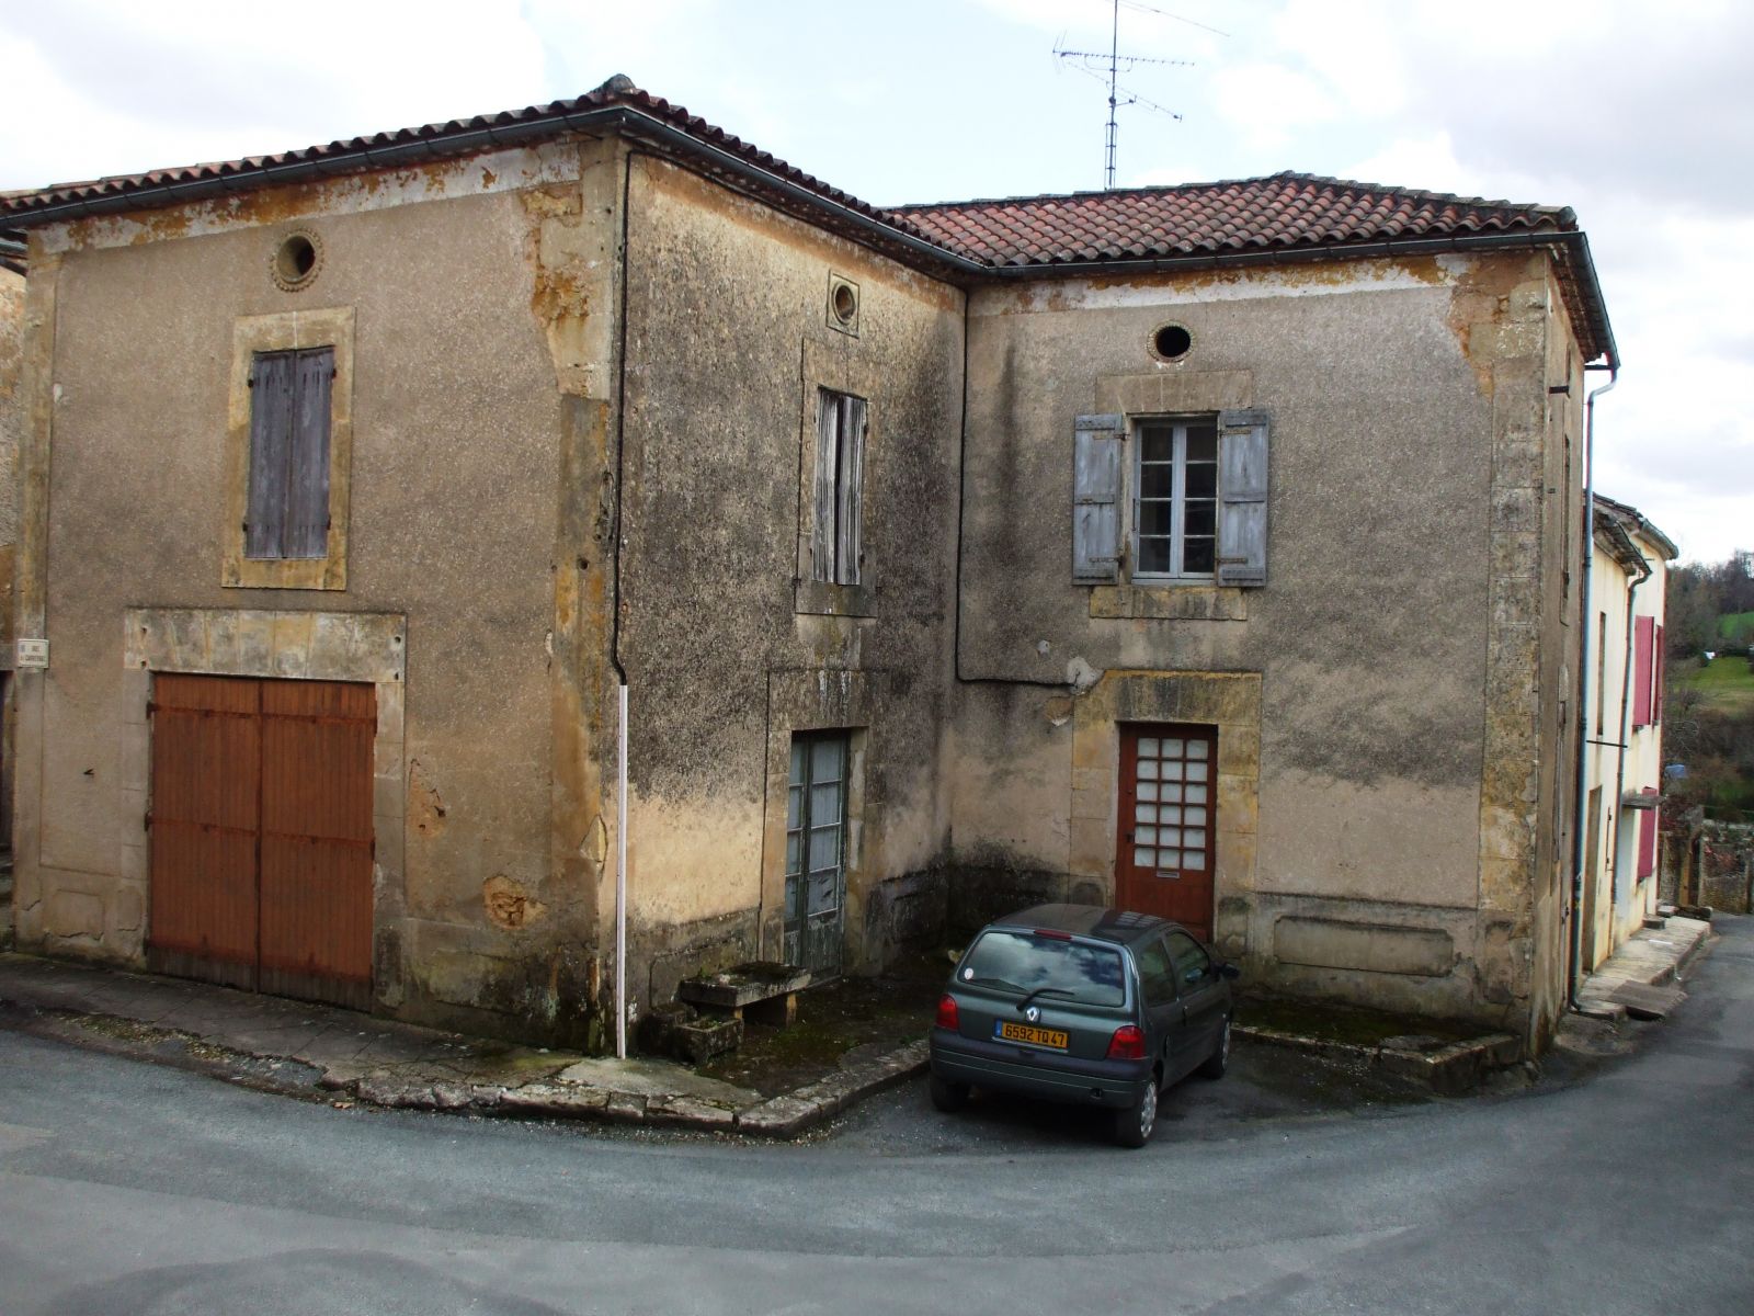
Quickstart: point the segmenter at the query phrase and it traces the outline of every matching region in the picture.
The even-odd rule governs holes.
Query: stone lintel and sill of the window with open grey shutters
[[[1186,358],[1182,358],[1186,361]],[[1159,365],[1147,374],[1098,375],[1091,411],[1126,416],[1128,460],[1137,465],[1133,421],[1145,416],[1203,416],[1254,407],[1252,370],[1187,370]],[[1131,486],[1135,477],[1128,477]],[[1131,491],[1128,491],[1128,504]],[[1096,619],[1247,621],[1249,591],[1205,581],[1121,581],[1089,591],[1089,616]]]

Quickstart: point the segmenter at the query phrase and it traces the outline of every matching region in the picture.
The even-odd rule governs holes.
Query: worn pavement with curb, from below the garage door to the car
[[[779,1097],[670,1060],[567,1051],[416,1028],[281,997],[96,965],[0,955],[11,1026],[217,1072],[272,1091],[372,1105],[609,1119],[793,1137],[926,1063],[926,1042]]]

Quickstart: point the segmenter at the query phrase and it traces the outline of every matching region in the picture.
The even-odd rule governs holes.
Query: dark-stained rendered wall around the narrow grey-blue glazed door
[[[830,325],[830,279],[858,291]],[[635,154],[621,662],[642,1000],[782,956],[793,732],[849,728],[852,972],[937,937],[961,295]],[[868,404],[858,586],[812,581],[817,393]]]

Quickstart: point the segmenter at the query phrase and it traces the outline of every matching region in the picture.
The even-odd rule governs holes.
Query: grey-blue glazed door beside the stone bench
[[[786,790],[786,962],[817,974],[840,972],[847,895],[845,732],[791,740]]]

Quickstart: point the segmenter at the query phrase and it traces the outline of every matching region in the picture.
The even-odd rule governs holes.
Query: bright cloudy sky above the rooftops
[[[873,204],[1100,188],[1107,93],[1054,47],[1109,25],[1110,0],[0,0],[0,188],[617,72]],[[1123,0],[1121,49],[1191,61],[1124,74],[1123,186],[1294,168],[1575,209],[1626,363],[1598,488],[1684,558],[1754,547],[1754,5]]]

